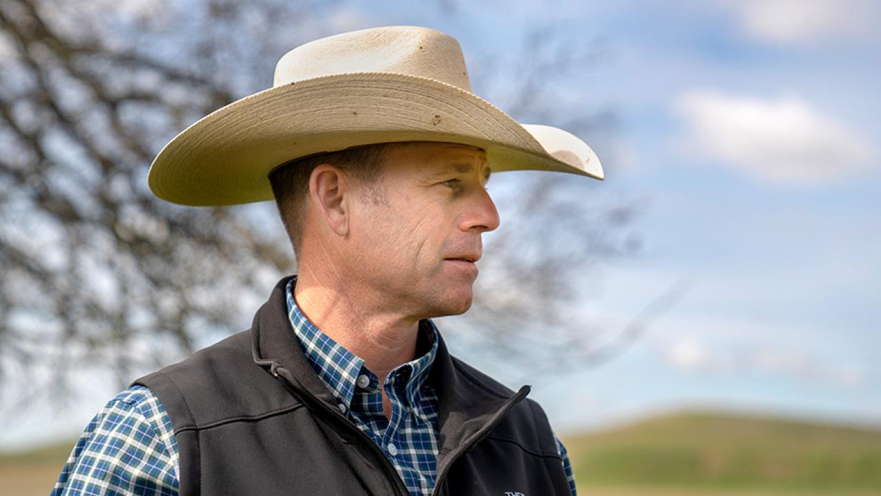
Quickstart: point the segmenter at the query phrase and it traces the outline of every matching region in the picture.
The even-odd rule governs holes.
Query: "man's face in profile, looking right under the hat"
[[[481,235],[499,227],[485,189],[489,172],[478,148],[389,147],[378,184],[360,185],[352,208],[347,252],[362,286],[420,319],[467,311]]]

